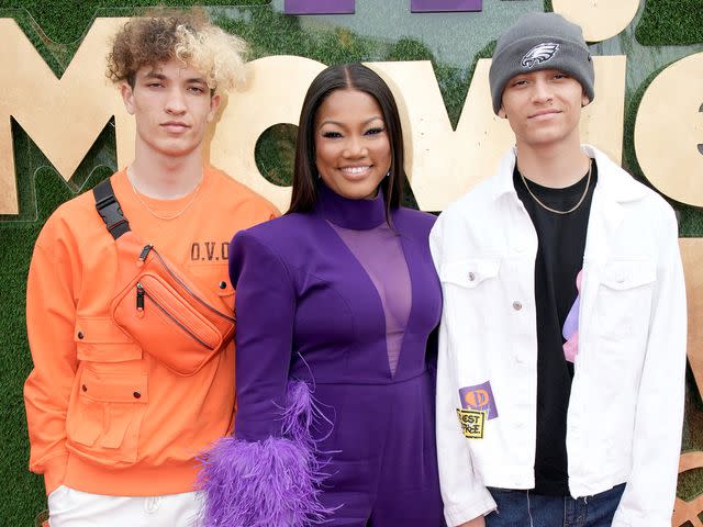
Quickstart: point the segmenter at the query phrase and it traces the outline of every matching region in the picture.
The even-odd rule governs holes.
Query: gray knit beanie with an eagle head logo
[[[593,60],[581,27],[557,13],[527,13],[498,40],[489,72],[493,111],[501,109],[507,81],[518,74],[558,69],[569,74],[593,101]]]

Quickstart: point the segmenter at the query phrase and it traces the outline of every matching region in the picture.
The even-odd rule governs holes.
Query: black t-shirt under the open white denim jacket
[[[539,205],[525,187],[517,166],[513,184],[537,232],[535,259],[535,305],[537,311],[537,442],[535,452],[536,494],[568,495],[567,410],[573,365],[565,358],[563,324],[578,295],[577,276],[583,267],[583,250],[591,199],[598,179],[593,168],[588,192],[579,208],[557,214]],[[545,205],[568,211],[583,192],[588,175],[577,183],[551,189],[527,181],[529,190]]]

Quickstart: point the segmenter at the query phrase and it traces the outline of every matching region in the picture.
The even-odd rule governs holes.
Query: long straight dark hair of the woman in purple
[[[381,108],[386,131],[391,147],[391,168],[380,188],[386,202],[386,218],[390,221],[391,209],[402,202],[405,183],[403,131],[395,99],[388,85],[378,74],[366,66],[342,64],[330,66],[314,78],[300,112],[298,139],[295,143],[295,165],[293,169],[293,195],[291,212],[309,212],[317,202],[317,166],[315,164],[315,117],[324,100],[337,90],[357,90],[371,96]]]

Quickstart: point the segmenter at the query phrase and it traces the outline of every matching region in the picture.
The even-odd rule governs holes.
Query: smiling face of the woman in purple
[[[364,91],[332,92],[315,115],[315,165],[330,189],[354,200],[372,198],[391,166],[383,112]]]

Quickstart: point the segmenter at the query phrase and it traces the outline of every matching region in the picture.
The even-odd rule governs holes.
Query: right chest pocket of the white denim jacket
[[[651,260],[609,261],[601,272],[595,330],[616,340],[646,339],[656,280],[657,270]]]

